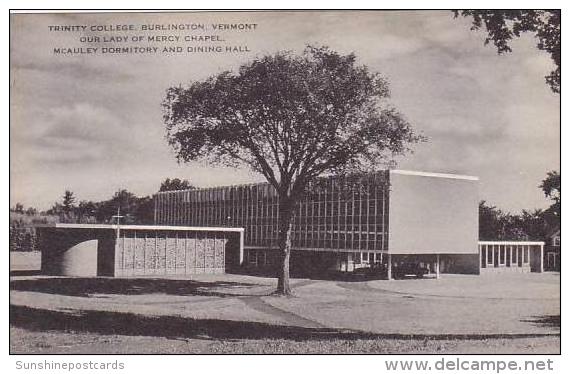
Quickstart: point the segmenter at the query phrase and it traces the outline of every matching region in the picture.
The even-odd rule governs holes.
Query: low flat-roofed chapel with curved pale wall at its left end
[[[54,223],[37,226],[45,275],[168,277],[243,263],[243,229]]]

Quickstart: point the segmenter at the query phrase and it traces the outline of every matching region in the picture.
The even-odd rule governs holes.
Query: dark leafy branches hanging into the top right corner
[[[537,47],[550,54],[556,68],[545,77],[553,92],[560,93],[560,10],[455,10],[455,18],[472,17],[471,30],[485,27],[485,45],[493,42],[499,54],[511,52],[509,45],[521,33],[534,33]]]

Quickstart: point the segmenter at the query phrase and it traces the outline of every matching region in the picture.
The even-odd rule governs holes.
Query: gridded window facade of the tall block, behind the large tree
[[[297,204],[294,249],[388,249],[388,172],[316,181]],[[155,223],[244,227],[247,247],[275,248],[278,196],[267,183],[160,192]]]

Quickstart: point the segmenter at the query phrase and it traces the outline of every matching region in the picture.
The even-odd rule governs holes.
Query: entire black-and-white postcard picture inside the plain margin
[[[10,355],[561,354],[560,9],[9,23]]]

